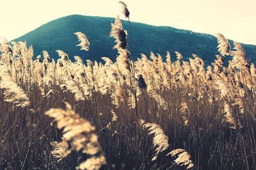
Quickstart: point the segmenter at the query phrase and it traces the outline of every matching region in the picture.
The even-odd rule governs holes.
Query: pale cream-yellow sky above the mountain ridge
[[[214,34],[256,45],[256,0],[124,0],[130,19]],[[122,15],[117,0],[0,0],[0,38],[8,41],[56,18]],[[86,26],[86,25],[84,25]]]

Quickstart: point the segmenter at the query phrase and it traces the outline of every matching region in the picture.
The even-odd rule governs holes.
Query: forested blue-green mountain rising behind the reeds
[[[101,57],[115,60],[117,52],[113,49],[114,39],[109,37],[111,23],[114,21],[115,18],[108,17],[69,15],[52,20],[20,38],[13,39],[13,41],[26,41],[28,45],[33,45],[35,56],[42,54],[43,50],[47,50],[52,58],[58,59],[58,54],[55,51],[63,50],[68,53],[70,59],[78,55],[84,60],[100,60]],[[132,32],[130,32],[129,22],[123,20],[122,23],[124,29],[128,31],[129,50],[134,59],[140,57],[140,53],[145,53],[149,57],[151,51],[165,57],[168,50],[172,57],[175,57],[175,51],[182,53],[184,58],[191,57],[191,53],[196,53],[205,60],[206,64],[209,64],[218,54],[217,40],[210,34],[138,22],[131,22]],[[77,31],[86,34],[90,41],[88,52],[79,50],[80,48],[76,46],[78,39],[73,33]],[[248,58],[255,62],[256,46],[242,45]]]

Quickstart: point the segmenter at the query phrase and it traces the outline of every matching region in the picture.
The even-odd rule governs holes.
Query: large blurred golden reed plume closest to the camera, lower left
[[[71,148],[67,152],[80,151],[93,156],[93,159],[88,159],[79,165],[80,169],[88,169],[95,167],[99,169],[102,165],[106,164],[106,159],[102,154],[102,149],[99,145],[98,138],[93,132],[93,127],[90,122],[79,117],[74,111],[65,111],[61,109],[52,108],[45,112],[45,115],[54,118],[58,129],[63,129],[63,138],[70,141]],[[95,160],[94,157],[99,154]],[[88,167],[87,165],[90,165]]]

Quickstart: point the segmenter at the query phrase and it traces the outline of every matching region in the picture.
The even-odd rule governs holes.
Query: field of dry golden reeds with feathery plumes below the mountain
[[[130,60],[118,17],[110,36],[115,62],[1,43],[0,169],[256,169],[256,70],[239,43],[216,34],[205,66],[179,52]]]

